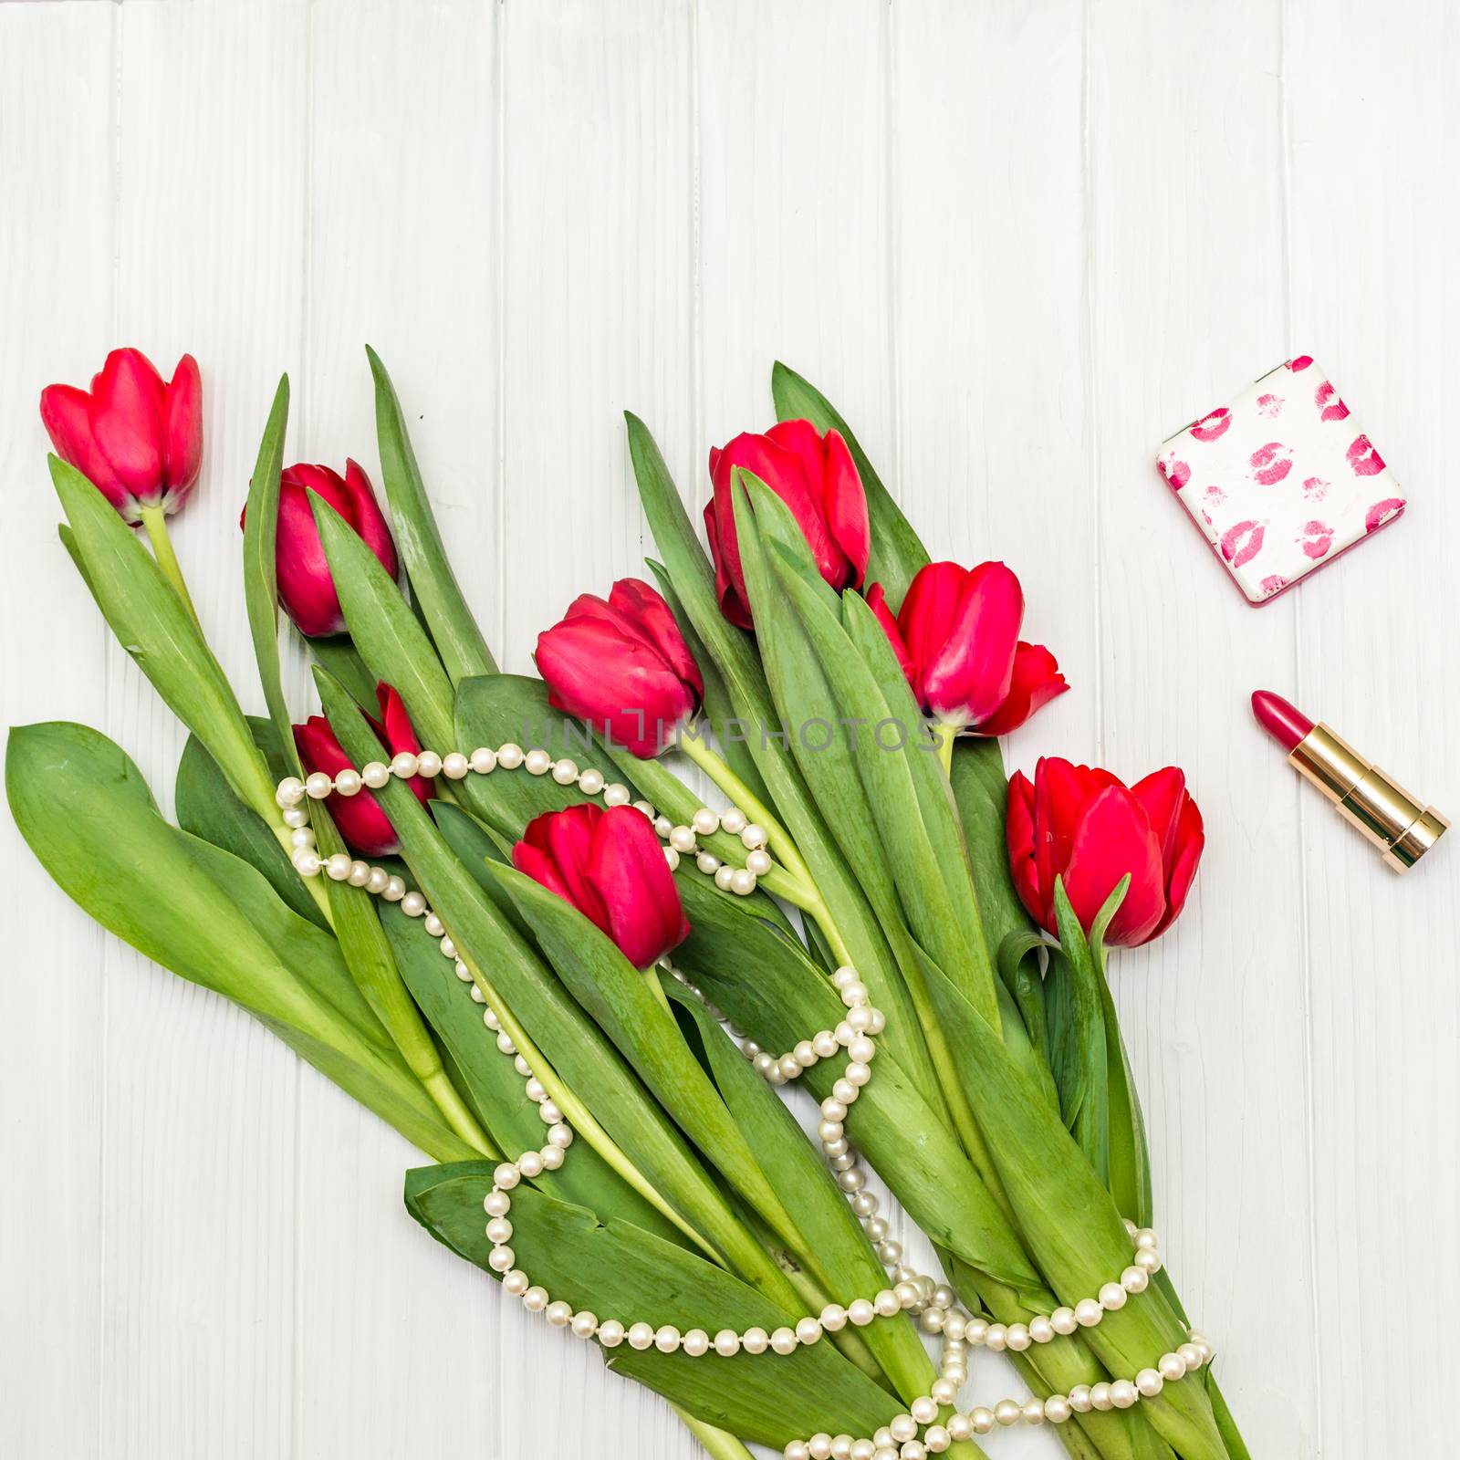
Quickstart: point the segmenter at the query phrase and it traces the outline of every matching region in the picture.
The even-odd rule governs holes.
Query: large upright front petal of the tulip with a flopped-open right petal
[[[1009,696],[1022,620],[1023,590],[1009,568],[972,568],[952,619],[942,625],[942,644],[917,654],[929,711],[952,724],[988,720]]]

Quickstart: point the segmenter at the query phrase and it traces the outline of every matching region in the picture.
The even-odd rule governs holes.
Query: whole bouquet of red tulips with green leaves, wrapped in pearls
[[[1181,772],[1006,780],[997,737],[1067,688],[1018,578],[930,562],[780,365],[780,423],[710,456],[708,553],[628,418],[657,587],[584,594],[542,679],[499,673],[369,361],[390,521],[353,461],[285,467],[280,383],[242,696],[166,534],[196,364],[168,384],[118,350],[44,393],[63,542],[191,731],[174,826],[101,733],[13,730],[50,873],[407,1136],[435,1162],[412,1215],[717,1457],[971,1456],[1006,1425],[1089,1460],[1245,1456],[1162,1264],[1105,981],[1196,875]],[[320,695],[299,724],[280,604]],[[863,1161],[942,1272],[905,1263]],[[1018,1394],[967,1393],[980,1348]]]

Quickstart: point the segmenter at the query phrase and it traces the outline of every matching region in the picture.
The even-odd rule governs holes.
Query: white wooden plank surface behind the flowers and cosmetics
[[[1460,848],[1390,877],[1245,696],[1460,806],[1457,66],[1442,0],[0,3],[4,718],[98,724],[171,802],[178,727],[55,540],[35,410],[114,343],[203,364],[175,537],[241,685],[237,517],[280,369],[291,457],[374,466],[383,352],[526,669],[648,546],[620,410],[698,505],[787,359],[934,552],[1022,575],[1075,691],[1012,761],[1188,771],[1197,889],[1117,996],[1253,1453],[1440,1454]],[[1298,349],[1410,514],[1253,612],[1150,458]],[[694,1451],[415,1228],[403,1142],[0,841],[0,1454]]]

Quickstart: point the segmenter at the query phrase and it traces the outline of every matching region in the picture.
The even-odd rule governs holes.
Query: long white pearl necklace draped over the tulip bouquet
[[[292,861],[301,876],[315,877],[323,873],[334,882],[364,888],[387,902],[399,902],[407,917],[423,918],[426,931],[439,940],[442,955],[454,961],[457,978],[470,986],[472,997],[477,1003],[486,1004],[486,993],[458,956],[445,924],[419,892],[407,891],[406,883],[384,867],[371,866],[346,853],[336,853],[327,858],[318,856],[314,850],[314,832],[310,829],[305,802],[324,800],[331,793],[356,796],[365,787],[380,790],[390,784],[391,777],[409,781],[416,775],[428,780],[445,775],[447,780],[460,781],[472,772],[491,775],[496,769],[518,768],[530,775],[550,774],[559,785],[577,785],[585,796],[602,797],[606,806],[631,804],[628,787],[607,781],[602,771],[580,769],[574,761],[565,758],[555,761],[548,750],[523,750],[512,742],[495,750],[482,746],[470,755],[460,750],[448,755],[438,755],[434,750],[418,753],[403,750],[388,765],[384,761],[371,761],[358,771],[346,768],[333,777],[324,771],[315,771],[305,780],[291,775],[279,783],[274,800],[283,812],[285,826],[289,828]],[[750,822],[745,812],[734,806],[723,812],[702,806],[688,825],[676,825],[667,816],[658,816],[648,802],[632,802],[632,804],[653,822],[660,841],[666,844],[664,857],[672,870],[680,864],[683,856],[692,854],[696,870],[714,877],[715,886],[721,891],[749,896],[756,888],[758,877],[765,876],[774,866],[765,850],[768,840],[765,828]],[[710,837],[717,831],[740,838],[746,848],[743,867],[723,863],[699,847],[701,837]],[[664,967],[704,1003],[711,1015],[726,1022],[696,984],[673,968],[667,959]],[[504,1161],[493,1169],[492,1188],[482,1203],[488,1216],[486,1237],[492,1244],[488,1266],[501,1276],[507,1292],[520,1298],[529,1313],[543,1314],[549,1324],[571,1329],[580,1339],[597,1339],[609,1349],[628,1343],[632,1349],[654,1348],[661,1353],[677,1350],[691,1358],[708,1353],[729,1358],[739,1352],[765,1353],[768,1349],[772,1353],[794,1353],[797,1348],[819,1342],[823,1333],[837,1333],[848,1324],[866,1327],[879,1317],[891,1318],[901,1311],[918,1317],[926,1333],[942,1336],[939,1377],[927,1394],[912,1400],[907,1413],[895,1416],[870,1437],[816,1434],[809,1440],[793,1440],[783,1451],[785,1460],[924,1460],[926,1456],[939,1454],[955,1441],[987,1435],[999,1426],[1042,1425],[1045,1421],[1060,1425],[1072,1415],[1129,1409],[1140,1399],[1158,1396],[1167,1383],[1175,1383],[1207,1364],[1213,1353],[1212,1345],[1191,1329],[1188,1342],[1169,1353],[1162,1353],[1155,1368],[1140,1369],[1133,1380],[1077,1384],[1067,1394],[1051,1394],[1044,1400],[1000,1399],[991,1407],[980,1405],[967,1412],[952,1409],[959,1388],[968,1378],[968,1349],[986,1348],[996,1352],[1009,1349],[1021,1353],[1031,1345],[1050,1343],[1056,1336],[1095,1327],[1107,1313],[1123,1308],[1130,1296],[1145,1292],[1152,1276],[1161,1270],[1161,1247],[1156,1234],[1149,1228],[1137,1229],[1133,1222],[1127,1222],[1126,1229],[1133,1244],[1132,1261],[1118,1279],[1104,1283],[1094,1298],[1082,1298],[1073,1307],[1058,1307],[1053,1313],[1031,1317],[1028,1323],[1010,1324],[987,1323],[968,1313],[959,1307],[949,1286],[904,1266],[902,1247],[889,1237],[886,1221],[877,1216],[877,1199],[866,1190],[866,1175],[858,1167],[856,1150],[847,1142],[844,1124],[848,1108],[872,1079],[872,1064],[877,1053],[875,1037],[886,1026],[886,1016],[873,1007],[867,987],[854,968],[838,968],[831,981],[847,1009],[845,1019],[835,1029],[821,1029],[810,1038],[797,1041],[781,1056],[762,1050],[733,1026],[729,1026],[729,1032],[742,1054],[771,1085],[784,1085],[818,1061],[835,1058],[845,1051],[847,1064],[841,1077],[832,1085],[832,1094],[821,1102],[816,1134],[837,1184],[863,1223],[877,1259],[888,1269],[892,1286],[870,1298],[856,1298],[847,1305],[828,1304],[819,1314],[799,1318],[794,1327],[780,1327],[772,1333],[761,1327],[746,1329],[743,1333],[721,1329],[714,1336],[704,1329],[680,1333],[673,1324],[656,1327],[642,1320],[631,1323],[620,1318],[600,1320],[594,1313],[587,1310],[575,1313],[571,1304],[553,1299],[515,1264],[515,1254],[508,1245],[512,1237],[512,1223],[508,1219],[512,1202],[508,1193],[524,1177],[534,1180],[545,1171],[559,1169],[566,1159],[574,1133],[531,1064],[518,1053],[511,1035],[502,1028],[496,1010],[483,1007],[482,1019],[496,1035],[498,1051],[512,1060],[517,1073],[526,1082],[526,1098],[537,1105],[537,1113],[548,1127],[546,1145],[523,1152],[515,1161]]]

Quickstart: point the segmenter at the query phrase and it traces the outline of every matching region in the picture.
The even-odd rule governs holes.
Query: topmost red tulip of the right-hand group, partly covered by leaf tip
[[[823,437],[809,420],[783,420],[765,435],[745,432],[710,453],[715,495],[705,505],[705,531],[715,561],[720,612],[731,623],[752,628],[730,495],[730,476],[737,466],[753,472],[791,510],[821,575],[834,588],[861,587],[872,527],[867,496],[847,442],[840,431]]]

